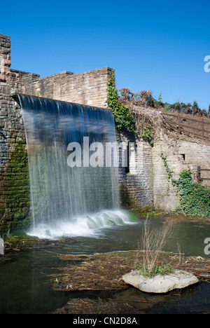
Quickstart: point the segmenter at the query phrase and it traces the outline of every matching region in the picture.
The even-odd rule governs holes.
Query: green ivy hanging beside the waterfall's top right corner
[[[116,88],[116,76],[111,74],[107,81],[107,104],[113,110],[113,116],[116,122],[116,128],[121,130],[125,128],[129,132],[135,132],[134,115],[130,109],[127,109],[118,99],[118,90]]]

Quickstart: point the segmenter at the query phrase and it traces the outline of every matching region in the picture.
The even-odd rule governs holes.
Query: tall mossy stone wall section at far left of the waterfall
[[[10,37],[0,34],[0,230],[8,231],[29,214],[29,177],[25,128],[10,97],[18,78],[10,70]]]

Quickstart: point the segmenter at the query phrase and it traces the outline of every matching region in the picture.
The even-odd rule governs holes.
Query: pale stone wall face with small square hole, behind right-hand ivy
[[[194,182],[197,182],[197,166],[210,169],[210,146],[170,138],[155,143],[152,150],[154,206],[167,211],[176,210],[179,207],[179,197],[176,195],[176,187],[169,181],[161,153],[167,156],[167,165],[174,178],[178,179],[183,170],[190,169]],[[202,173],[202,177],[210,178],[209,172],[206,175]],[[210,186],[210,181],[204,180],[202,184]]]

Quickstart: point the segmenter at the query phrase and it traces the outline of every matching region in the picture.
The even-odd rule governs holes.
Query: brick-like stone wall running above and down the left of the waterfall
[[[0,34],[0,233],[24,226],[29,217],[29,171],[21,109],[11,97],[17,93],[106,107],[105,67],[73,74],[39,74],[10,69],[10,36]]]

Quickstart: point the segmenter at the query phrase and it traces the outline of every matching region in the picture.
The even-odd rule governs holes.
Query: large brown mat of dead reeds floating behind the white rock
[[[159,255],[160,261],[170,263],[174,269],[177,268],[179,254],[162,252]],[[64,266],[59,268],[59,272],[48,275],[49,283],[52,289],[61,292],[127,289],[128,285],[123,282],[122,276],[134,270],[137,257],[139,263],[143,263],[144,252],[113,252],[94,254],[90,257],[60,255]],[[69,260],[73,260],[72,263],[65,264]],[[200,278],[210,279],[209,265],[210,259],[185,257],[181,269]]]

